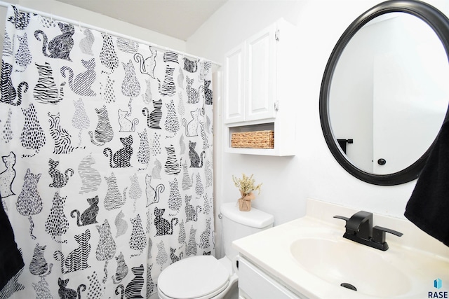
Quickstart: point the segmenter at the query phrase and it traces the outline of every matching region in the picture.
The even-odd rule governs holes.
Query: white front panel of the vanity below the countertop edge
[[[245,258],[239,259],[239,298],[240,299],[297,299],[301,297],[275,281],[268,274]]]

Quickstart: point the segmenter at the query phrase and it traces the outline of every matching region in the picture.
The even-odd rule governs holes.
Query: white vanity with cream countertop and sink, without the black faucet
[[[448,246],[406,219],[377,214],[373,225],[403,232],[402,237],[387,234],[387,251],[344,239],[344,221],[333,216],[350,217],[356,212],[309,199],[306,216],[236,240],[233,245],[241,256],[239,297],[449,296]],[[442,281],[441,288],[434,287],[436,279]]]

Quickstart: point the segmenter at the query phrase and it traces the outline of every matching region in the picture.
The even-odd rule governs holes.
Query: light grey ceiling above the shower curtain
[[[57,0],[182,41],[227,0]]]

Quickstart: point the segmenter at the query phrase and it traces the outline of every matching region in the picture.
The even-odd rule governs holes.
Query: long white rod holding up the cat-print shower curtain
[[[4,6],[6,8],[8,8],[8,6],[15,6],[15,7],[18,8],[19,11],[23,11],[25,13],[35,13],[35,14],[38,14],[38,15],[42,15],[43,17],[50,18],[52,20],[54,19],[54,20],[58,20],[58,21],[61,21],[61,22],[67,22],[67,23],[70,23],[72,25],[78,25],[79,27],[93,29],[93,30],[96,30],[98,32],[103,32],[103,33],[108,34],[108,35],[120,37],[121,39],[128,39],[130,41],[135,41],[135,42],[138,42],[138,43],[142,43],[144,45],[151,46],[153,48],[158,48],[159,50],[166,50],[166,51],[175,52],[175,53],[178,53],[178,54],[180,54],[182,56],[190,57],[190,58],[193,58],[193,59],[196,59],[196,60],[200,60],[200,59],[207,60],[206,58],[203,58],[203,57],[190,55],[190,54],[184,53],[184,52],[179,51],[179,50],[174,50],[174,49],[170,49],[168,47],[159,46],[156,43],[150,43],[149,41],[144,41],[142,39],[134,39],[133,37],[126,36],[125,34],[121,34],[119,32],[112,32],[112,31],[109,31],[109,30],[107,30],[105,28],[96,27],[94,25],[90,25],[90,24],[86,24],[86,23],[83,23],[83,22],[71,20],[69,18],[64,18],[64,17],[58,16],[58,15],[53,15],[51,13],[44,13],[42,11],[36,11],[36,10],[34,10],[32,8],[25,8],[25,7],[20,6],[18,4],[11,4],[11,3],[8,3],[8,2],[5,2],[5,1],[0,1],[0,6]],[[220,63],[218,63],[218,62],[214,62],[214,61],[211,61],[211,60],[209,60],[209,61],[210,61],[210,63],[215,64],[217,67],[222,67],[222,65]]]

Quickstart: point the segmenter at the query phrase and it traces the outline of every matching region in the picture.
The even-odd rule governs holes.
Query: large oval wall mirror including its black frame
[[[320,118],[337,162],[362,181],[416,179],[448,119],[449,19],[387,1],[342,34],[323,75]]]

